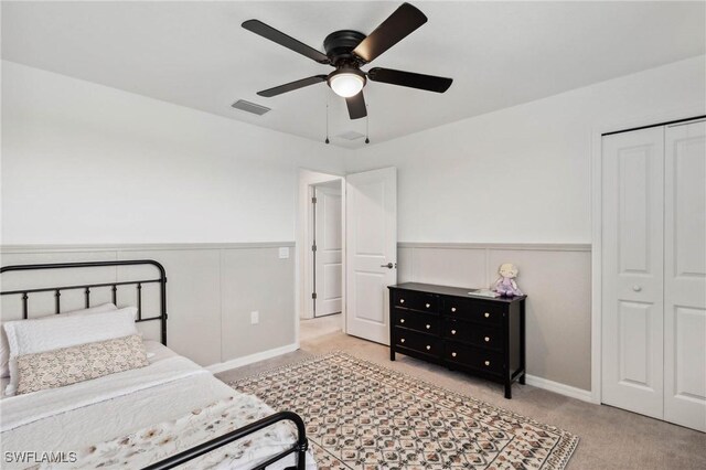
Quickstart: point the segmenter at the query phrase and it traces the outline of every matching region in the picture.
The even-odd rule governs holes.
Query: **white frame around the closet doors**
[[[703,106],[694,106],[656,115],[599,122],[591,130],[591,402],[601,404],[602,360],[602,136],[660,122],[703,116]]]

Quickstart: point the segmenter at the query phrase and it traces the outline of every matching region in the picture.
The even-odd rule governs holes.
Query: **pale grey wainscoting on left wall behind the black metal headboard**
[[[167,269],[168,344],[201,365],[258,357],[290,348],[296,339],[293,258],[279,258],[292,242],[246,244],[2,246],[2,265],[154,259]],[[154,277],[153,268],[109,267],[62,271],[10,273],[3,290],[15,286],[109,282],[135,276]],[[28,284],[29,282],[29,284]],[[84,307],[83,295],[62,293],[62,310]],[[132,287],[118,291],[118,305],[135,305]],[[157,312],[158,290],[145,286],[143,311]],[[103,297],[101,297],[103,296]],[[109,292],[92,293],[92,303],[110,301]],[[30,297],[30,316],[54,312],[52,292]],[[250,324],[250,311],[259,323]],[[2,320],[21,318],[21,301],[3,297]],[[146,338],[159,339],[159,322],[140,323]]]

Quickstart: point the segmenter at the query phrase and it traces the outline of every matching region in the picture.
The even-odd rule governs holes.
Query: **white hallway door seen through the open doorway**
[[[343,292],[341,183],[314,189],[314,316],[339,313]]]

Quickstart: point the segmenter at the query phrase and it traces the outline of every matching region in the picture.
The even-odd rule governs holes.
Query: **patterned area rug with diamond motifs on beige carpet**
[[[578,437],[335,352],[231,384],[307,423],[321,470],[563,469]]]

